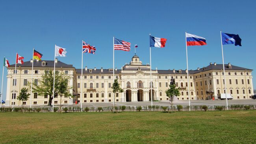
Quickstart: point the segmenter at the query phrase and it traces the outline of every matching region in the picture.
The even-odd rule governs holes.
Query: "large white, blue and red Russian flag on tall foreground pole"
[[[187,46],[206,45],[206,39],[200,36],[186,33]]]

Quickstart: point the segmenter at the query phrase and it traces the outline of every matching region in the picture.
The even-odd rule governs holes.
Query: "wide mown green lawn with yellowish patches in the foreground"
[[[256,110],[0,113],[1,144],[255,144]]]

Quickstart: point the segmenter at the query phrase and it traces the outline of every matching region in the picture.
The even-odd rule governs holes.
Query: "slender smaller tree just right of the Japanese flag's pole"
[[[63,73],[60,74],[61,77],[58,79],[58,85],[56,86],[56,93],[60,96],[60,104],[59,104],[59,112],[61,112],[61,103],[67,99],[71,94],[69,93],[69,90],[72,88],[69,84],[69,76],[64,75]],[[64,95],[64,99],[62,99]],[[61,112],[62,113],[62,112]]]

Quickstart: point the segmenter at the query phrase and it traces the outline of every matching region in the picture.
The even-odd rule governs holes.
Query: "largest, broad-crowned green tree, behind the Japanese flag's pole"
[[[55,90],[54,95],[58,95],[58,86],[61,81],[62,74],[59,72],[55,72]],[[45,70],[45,74],[43,74],[42,78],[38,80],[38,85],[33,84],[33,92],[37,92],[38,95],[49,95],[48,106],[52,105],[53,99],[53,81],[54,81],[54,71],[53,70]],[[28,85],[31,85],[29,83]]]

